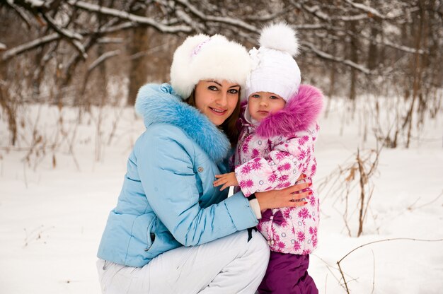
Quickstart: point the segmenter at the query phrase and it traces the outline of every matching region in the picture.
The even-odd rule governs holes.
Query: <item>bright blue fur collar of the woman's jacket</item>
[[[167,83],[146,84],[140,88],[135,110],[142,115],[146,127],[166,123],[183,129],[215,162],[224,159],[229,151],[226,135],[205,114],[183,102]]]

